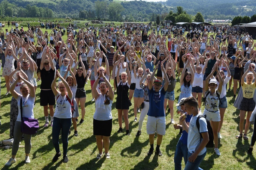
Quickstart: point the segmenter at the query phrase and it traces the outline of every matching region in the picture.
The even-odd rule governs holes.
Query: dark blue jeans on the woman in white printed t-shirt
[[[53,119],[53,145],[54,145],[56,153],[60,152],[60,149],[59,149],[59,133],[60,133],[60,130],[61,130],[63,155],[67,155],[67,152],[68,152],[68,136],[69,136],[70,126],[71,126],[71,118],[60,119],[60,118],[54,117],[54,119]]]

